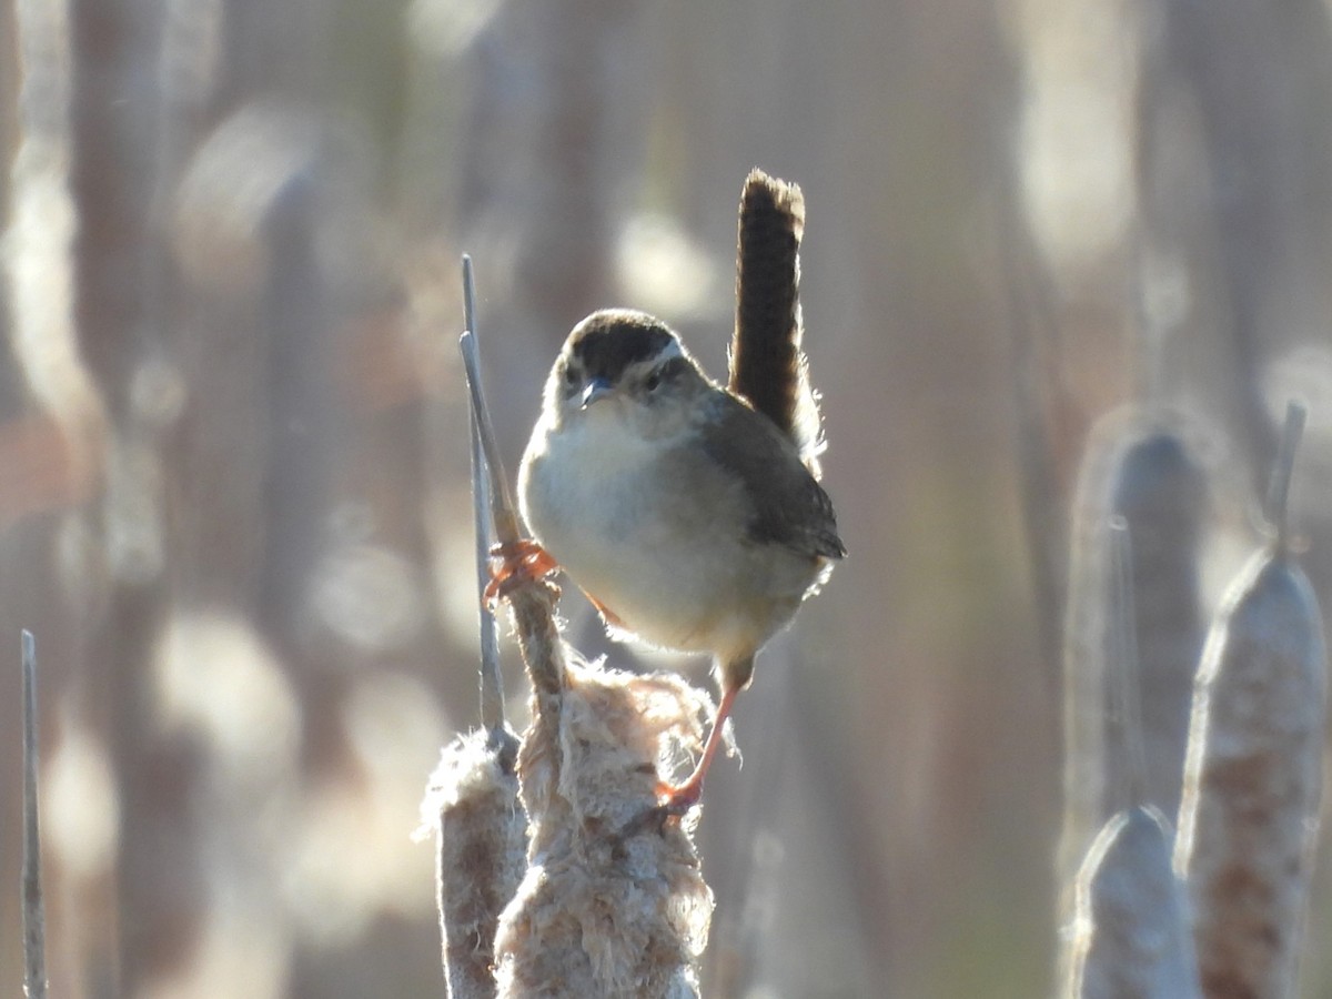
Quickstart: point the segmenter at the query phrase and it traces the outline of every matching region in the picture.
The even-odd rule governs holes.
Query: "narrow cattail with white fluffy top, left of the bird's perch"
[[[527,822],[518,802],[518,739],[478,729],[450,743],[422,805],[438,844],[436,880],[450,999],[496,995],[500,912],[518,890]]]

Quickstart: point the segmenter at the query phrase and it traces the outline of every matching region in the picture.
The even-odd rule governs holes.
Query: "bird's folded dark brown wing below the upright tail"
[[[770,420],[725,393],[702,424],[703,450],[739,478],[750,507],[749,534],[810,557],[842,558],[832,501]]]

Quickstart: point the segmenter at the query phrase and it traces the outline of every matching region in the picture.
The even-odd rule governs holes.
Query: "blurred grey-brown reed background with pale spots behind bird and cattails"
[[[595,308],[659,314],[725,376],[758,165],[805,189],[851,554],[759,658],[743,766],[709,781],[705,991],[1048,994],[1090,428],[1134,400],[1188,414],[1205,614],[1303,397],[1293,521],[1329,606],[1327,21],[1319,0],[5,4],[0,982],[21,980],[28,627],[55,995],[442,994],[412,834],[478,721],[460,254],[511,472]],[[563,614],[634,662],[571,587]],[[1319,950],[1305,994],[1332,996]]]

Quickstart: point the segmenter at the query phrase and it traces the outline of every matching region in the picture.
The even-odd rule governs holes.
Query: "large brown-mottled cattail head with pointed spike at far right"
[[[1175,867],[1188,883],[1207,995],[1295,994],[1321,793],[1327,647],[1287,543],[1292,406],[1272,541],[1231,583],[1207,638]]]

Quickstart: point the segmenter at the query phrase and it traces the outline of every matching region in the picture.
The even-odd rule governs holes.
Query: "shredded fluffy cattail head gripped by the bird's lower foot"
[[[674,674],[567,663],[559,695],[534,698],[519,751],[531,844],[501,918],[500,995],[697,996],[713,895],[657,786],[698,745],[702,694]]]

